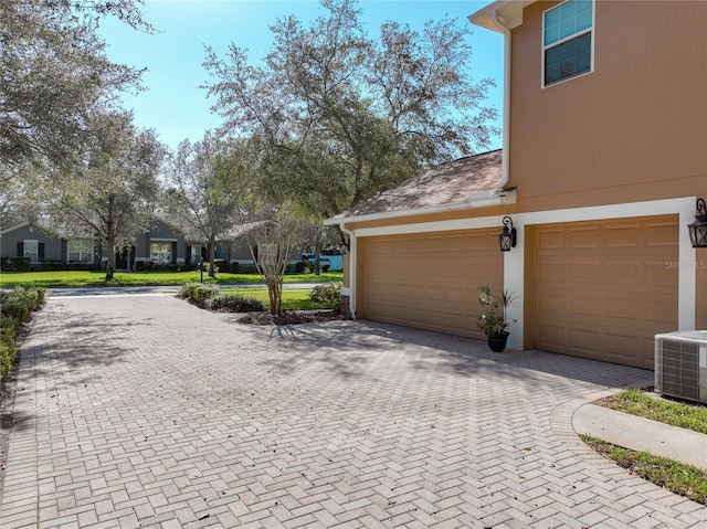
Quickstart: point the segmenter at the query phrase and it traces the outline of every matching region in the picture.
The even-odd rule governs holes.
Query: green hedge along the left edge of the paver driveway
[[[17,287],[0,292],[0,381],[12,369],[18,355],[18,336],[22,324],[44,304],[45,289]]]

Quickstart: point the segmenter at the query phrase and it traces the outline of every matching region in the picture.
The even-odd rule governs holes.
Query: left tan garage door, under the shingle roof
[[[358,240],[357,317],[483,338],[478,286],[503,285],[498,230]]]

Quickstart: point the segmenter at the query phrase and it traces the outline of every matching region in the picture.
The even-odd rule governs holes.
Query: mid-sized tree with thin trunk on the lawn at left
[[[96,114],[88,125],[92,141],[77,146],[82,163],[39,173],[35,197],[55,229],[101,240],[110,279],[117,246],[154,222],[165,148],[127,113]]]

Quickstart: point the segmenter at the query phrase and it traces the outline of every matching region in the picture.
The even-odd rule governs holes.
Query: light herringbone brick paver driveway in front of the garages
[[[54,297],[24,342],[0,527],[706,527],[592,453],[648,371],[169,295]]]

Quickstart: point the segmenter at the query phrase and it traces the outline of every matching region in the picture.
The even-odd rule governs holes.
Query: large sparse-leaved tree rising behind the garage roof
[[[488,147],[496,112],[482,104],[493,81],[472,80],[467,30],[447,18],[422,34],[388,22],[371,40],[354,0],[321,4],[308,28],[277,21],[262,65],[234,43],[224,59],[207,50],[213,108],[226,134],[262,145],[266,192],[326,218]]]

